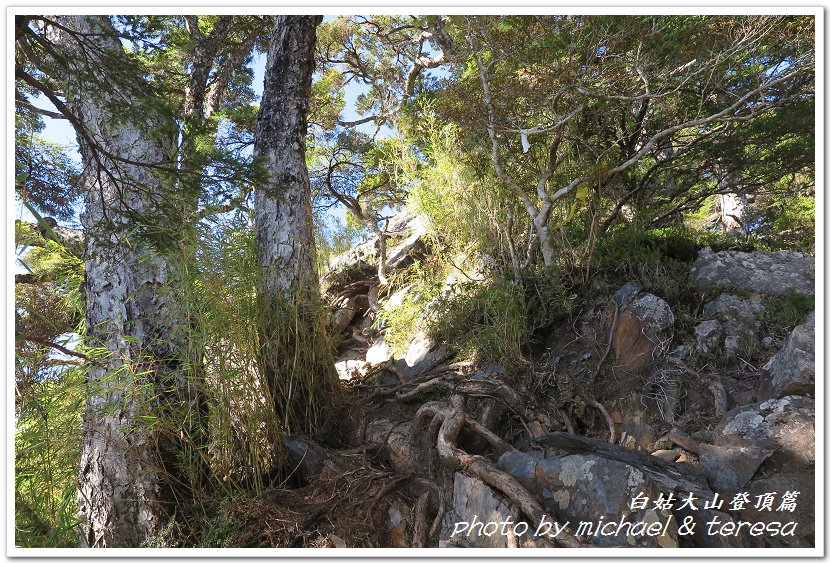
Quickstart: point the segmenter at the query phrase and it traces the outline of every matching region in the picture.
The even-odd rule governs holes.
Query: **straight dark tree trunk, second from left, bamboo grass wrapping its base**
[[[277,16],[254,141],[267,180],[255,194],[261,281],[260,363],[288,431],[312,431],[333,382],[305,162],[318,16]]]

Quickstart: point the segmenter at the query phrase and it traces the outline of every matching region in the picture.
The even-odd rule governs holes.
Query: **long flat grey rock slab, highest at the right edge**
[[[779,252],[714,252],[704,248],[692,264],[692,282],[702,291],[733,288],[763,295],[788,291],[815,293],[815,259],[782,250]]]

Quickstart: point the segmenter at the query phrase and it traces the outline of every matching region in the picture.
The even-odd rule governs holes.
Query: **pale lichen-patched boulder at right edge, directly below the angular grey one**
[[[732,409],[715,428],[717,446],[770,452],[765,466],[797,471],[815,464],[815,401],[788,395]]]

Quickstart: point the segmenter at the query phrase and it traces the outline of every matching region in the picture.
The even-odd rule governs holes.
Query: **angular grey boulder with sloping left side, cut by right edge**
[[[816,327],[814,323],[793,329],[784,347],[761,370],[760,400],[786,395],[815,395]]]

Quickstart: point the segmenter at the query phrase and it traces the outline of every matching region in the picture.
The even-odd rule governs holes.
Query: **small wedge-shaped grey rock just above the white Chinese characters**
[[[769,450],[743,446],[700,444],[700,470],[712,490],[735,493],[743,489],[770,456]]]

